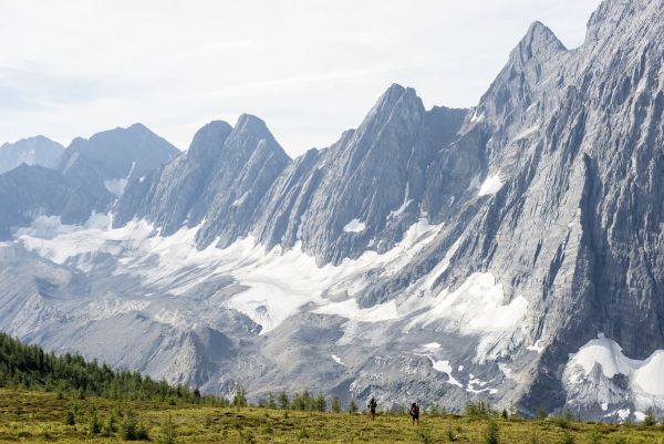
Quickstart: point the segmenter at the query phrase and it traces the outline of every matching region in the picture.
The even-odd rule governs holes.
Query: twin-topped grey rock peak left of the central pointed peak
[[[235,128],[212,122],[198,131],[187,153],[132,183],[114,224],[146,218],[173,234],[205,220],[197,244],[218,239],[227,246],[249,233],[260,200],[289,163],[261,120],[245,114]]]

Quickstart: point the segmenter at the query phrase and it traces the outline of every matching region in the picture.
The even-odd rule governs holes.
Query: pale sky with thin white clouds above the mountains
[[[266,121],[297,156],[392,84],[474,106],[531,22],[583,43],[600,0],[0,0],[0,143],[142,122],[180,149]]]

